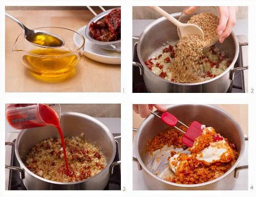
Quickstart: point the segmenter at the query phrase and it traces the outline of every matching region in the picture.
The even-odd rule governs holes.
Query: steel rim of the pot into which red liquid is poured
[[[83,117],[83,118],[86,118],[86,119],[89,119],[93,122],[95,122],[96,124],[100,125],[102,127],[102,129],[108,134],[108,136],[110,137],[111,139],[111,143],[112,143],[112,147],[113,147],[113,150],[112,150],[112,156],[110,158],[110,161],[108,162],[108,164],[106,164],[106,166],[104,167],[104,169],[102,169],[97,175],[94,175],[93,177],[90,177],[88,179],[84,179],[84,180],[81,180],[81,181],[76,181],[76,182],[57,182],[57,181],[51,181],[51,180],[48,180],[48,179],[44,179],[42,177],[39,177],[37,176],[36,174],[32,173],[32,171],[30,171],[26,166],[25,164],[23,163],[22,159],[20,159],[19,157],[19,153],[18,153],[18,147],[17,147],[17,143],[19,141],[19,138],[20,136],[26,132],[27,129],[24,129],[22,131],[19,132],[18,136],[17,136],[17,139],[15,141],[15,154],[16,154],[16,157],[17,157],[17,160],[20,164],[20,166],[27,172],[29,173],[30,175],[32,175],[33,177],[37,178],[37,179],[40,179],[42,181],[45,181],[45,182],[48,182],[48,183],[53,183],[53,184],[59,184],[59,185],[73,185],[73,184],[79,184],[79,183],[83,183],[83,182],[87,182],[87,181],[90,181],[92,179],[95,179],[99,176],[101,176],[101,174],[105,173],[106,170],[109,170],[109,173],[110,173],[110,166],[111,164],[113,163],[114,159],[115,159],[115,155],[116,155],[116,143],[115,143],[115,139],[114,139],[114,136],[113,134],[111,133],[111,131],[109,130],[108,127],[106,127],[101,121],[97,120],[96,118],[92,117],[92,116],[89,116],[89,115],[86,115],[86,114],[82,114],[82,113],[78,113],[78,112],[61,112],[61,116],[63,118],[63,116],[65,115],[75,115],[75,116],[80,116],[80,117]],[[32,129],[32,128],[31,128]],[[25,177],[26,179],[26,177]]]

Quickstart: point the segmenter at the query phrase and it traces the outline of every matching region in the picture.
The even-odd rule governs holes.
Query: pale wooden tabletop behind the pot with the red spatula
[[[238,124],[242,128],[242,131],[245,135],[248,136],[248,105],[215,105],[217,107],[220,107],[227,113],[229,113],[234,119],[238,121]],[[156,108],[154,108],[154,111]],[[139,114],[136,114],[133,112],[133,128],[138,129],[141,122],[145,118],[140,117]],[[133,138],[136,132],[133,132]]]

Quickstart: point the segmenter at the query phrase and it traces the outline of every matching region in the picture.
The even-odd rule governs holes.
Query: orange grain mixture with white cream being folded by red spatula
[[[185,127],[180,129],[186,131]],[[147,151],[154,154],[154,151],[161,149],[164,145],[183,147],[185,150],[187,146],[181,142],[183,135],[177,129],[161,132],[153,139]],[[151,140],[147,145],[150,142]],[[205,183],[225,174],[239,156],[236,146],[211,127],[203,127],[202,135],[196,138],[193,147],[188,151],[190,154],[170,152],[167,162],[170,170],[175,174],[171,177],[165,176],[165,180],[180,184]]]

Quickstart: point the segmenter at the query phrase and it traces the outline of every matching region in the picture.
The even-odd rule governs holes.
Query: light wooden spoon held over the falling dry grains
[[[196,26],[196,24],[190,24],[190,23],[182,23],[173,16],[170,16],[167,12],[165,12],[163,9],[159,8],[158,6],[153,6],[153,9],[157,11],[159,14],[167,18],[169,21],[173,22],[179,29],[180,34],[182,36],[189,35],[189,34],[196,34],[201,36],[204,39],[204,33]]]

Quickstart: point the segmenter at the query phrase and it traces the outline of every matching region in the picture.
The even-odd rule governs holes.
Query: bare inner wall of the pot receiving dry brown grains
[[[180,13],[171,14],[176,19],[179,19]],[[165,17],[161,17],[147,26],[142,32],[137,46],[138,57],[142,65],[146,68],[144,61],[148,57],[153,57],[156,52],[163,48],[163,44],[167,41],[170,43],[177,42],[179,40],[177,26],[167,20]],[[224,40],[222,44],[216,43],[222,51],[227,54],[231,60],[236,60],[234,58],[236,55],[236,50],[238,50],[237,37],[232,32],[228,38]],[[149,69],[146,69],[150,71]]]

